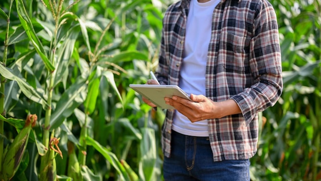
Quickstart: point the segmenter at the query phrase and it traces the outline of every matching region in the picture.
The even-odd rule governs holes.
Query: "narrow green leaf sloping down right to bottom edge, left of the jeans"
[[[99,153],[101,153],[107,159],[107,161],[110,162],[110,164],[116,169],[118,174],[121,176],[121,180],[130,180],[125,168],[123,167],[123,165],[114,153],[101,146],[101,144],[99,144],[91,137],[86,137],[86,143],[89,146],[93,146]]]

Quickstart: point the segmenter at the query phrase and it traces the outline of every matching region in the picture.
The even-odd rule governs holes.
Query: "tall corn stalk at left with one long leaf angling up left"
[[[31,40],[31,42],[34,44],[34,47],[38,53],[38,55],[42,58],[46,68],[47,68],[47,80],[49,80],[49,84],[47,85],[47,105],[48,107],[45,108],[46,114],[45,114],[45,123],[44,123],[44,131],[43,131],[43,144],[45,147],[49,148],[51,147],[51,144],[49,144],[50,137],[49,137],[49,130],[50,130],[50,119],[51,119],[51,111],[52,111],[52,94],[53,94],[53,88],[54,88],[54,78],[55,78],[55,62],[56,62],[56,49],[58,45],[57,41],[57,34],[58,34],[58,29],[59,27],[63,24],[60,21],[60,17],[62,15],[62,7],[64,1],[58,1],[58,4],[56,4],[55,1],[49,1],[47,2],[48,4],[44,5],[46,7],[49,6],[49,9],[52,12],[53,18],[54,18],[54,31],[53,31],[53,36],[52,40],[50,41],[50,51],[49,51],[49,56],[47,56],[47,53],[45,51],[45,48],[43,47],[41,41],[38,39],[35,30],[33,28],[32,22],[28,16],[28,13],[25,9],[24,2],[22,0],[18,0],[16,5],[17,5],[17,11],[19,15],[19,19],[22,22],[22,25],[24,29],[26,30],[26,33]],[[52,151],[48,151],[45,156],[41,158],[41,166],[39,168],[40,170],[40,176],[43,175],[43,173],[48,172],[48,167],[55,167],[55,160],[54,157],[52,156]],[[55,170],[56,168],[52,168]],[[53,172],[54,174],[55,172]],[[55,180],[56,176],[53,175],[49,178],[49,180]]]

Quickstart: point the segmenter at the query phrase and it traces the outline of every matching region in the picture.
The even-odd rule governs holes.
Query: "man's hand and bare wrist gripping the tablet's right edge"
[[[191,122],[241,113],[236,102],[231,99],[214,102],[203,95],[191,94],[190,97],[192,101],[173,96],[172,98],[165,98],[165,102],[175,107],[179,113],[185,115]]]

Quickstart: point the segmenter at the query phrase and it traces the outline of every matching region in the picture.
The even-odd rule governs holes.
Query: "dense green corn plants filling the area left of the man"
[[[161,178],[154,131],[159,128],[149,118],[150,108],[139,107],[127,88],[128,82],[142,83],[155,67],[162,16],[158,9],[150,1],[1,4],[1,17],[8,22],[6,31],[0,31],[6,33],[8,50],[0,65],[1,141],[4,135],[8,140],[18,137],[27,114],[39,120],[24,167],[6,178]]]

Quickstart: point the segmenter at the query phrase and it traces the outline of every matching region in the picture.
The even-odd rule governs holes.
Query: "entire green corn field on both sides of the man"
[[[155,70],[172,2],[0,2],[0,180],[164,180],[164,111],[129,84]],[[284,92],[251,179],[321,180],[321,1],[270,2]]]

